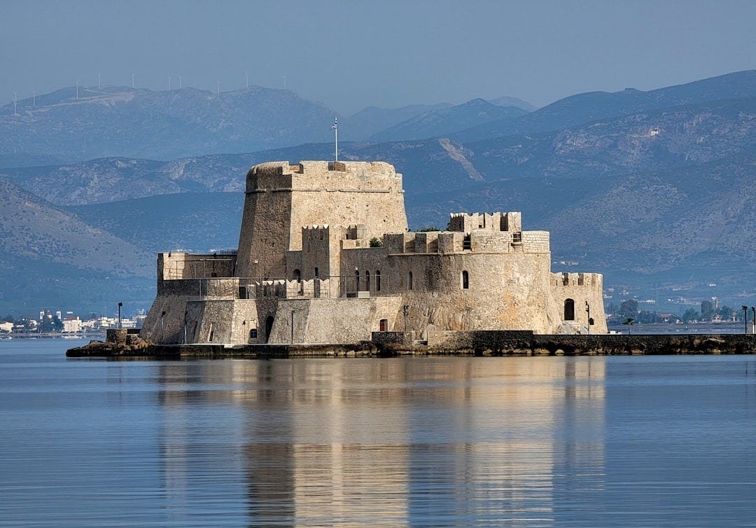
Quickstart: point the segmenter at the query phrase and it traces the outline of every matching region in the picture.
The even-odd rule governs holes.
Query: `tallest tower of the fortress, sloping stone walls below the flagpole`
[[[407,231],[401,174],[383,162],[276,161],[246,175],[237,277],[285,277],[302,227],[366,226],[367,239]]]

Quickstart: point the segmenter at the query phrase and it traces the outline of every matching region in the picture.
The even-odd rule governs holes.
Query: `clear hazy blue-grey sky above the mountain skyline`
[[[250,84],[363,107],[648,90],[756,64],[756,2],[0,3],[0,104],[71,86]]]

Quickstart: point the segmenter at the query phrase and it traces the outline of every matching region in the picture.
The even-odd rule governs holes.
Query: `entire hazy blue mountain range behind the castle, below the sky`
[[[337,114],[292,92],[71,90],[0,109],[0,310],[146,308],[154,252],[235,247],[249,166],[333,157]],[[522,210],[556,262],[607,286],[732,304],[756,297],[754,146],[754,71],[538,110],[500,98],[339,116],[339,158],[393,163],[412,228]]]

